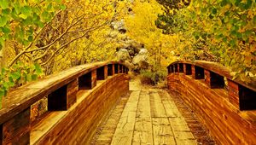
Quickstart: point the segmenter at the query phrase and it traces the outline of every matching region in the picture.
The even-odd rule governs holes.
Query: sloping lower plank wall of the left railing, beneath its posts
[[[31,141],[35,144],[89,143],[97,125],[128,88],[125,74],[116,74],[98,81],[92,90],[79,90],[77,102],[66,112],[55,112],[55,119],[49,115],[33,126]]]

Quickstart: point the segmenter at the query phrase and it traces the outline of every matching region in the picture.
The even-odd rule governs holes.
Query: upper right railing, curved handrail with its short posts
[[[203,79],[211,89],[227,87],[230,102],[240,110],[256,109],[256,84],[233,80],[230,71],[210,61],[176,61],[167,67],[168,73],[184,73],[195,79]]]

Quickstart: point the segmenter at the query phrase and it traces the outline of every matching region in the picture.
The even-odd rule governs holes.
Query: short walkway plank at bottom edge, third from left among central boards
[[[154,144],[176,144],[167,118],[153,118]]]

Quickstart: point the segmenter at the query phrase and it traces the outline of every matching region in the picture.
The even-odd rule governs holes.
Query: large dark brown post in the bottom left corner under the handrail
[[[30,107],[3,123],[1,129],[2,144],[30,144]]]

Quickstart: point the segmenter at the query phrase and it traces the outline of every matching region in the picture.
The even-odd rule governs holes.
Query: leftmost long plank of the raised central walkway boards
[[[140,90],[131,92],[131,96],[126,103],[124,112],[121,115],[117,130],[114,133],[111,144],[113,145],[130,145],[135,125],[137,113],[137,102]]]

